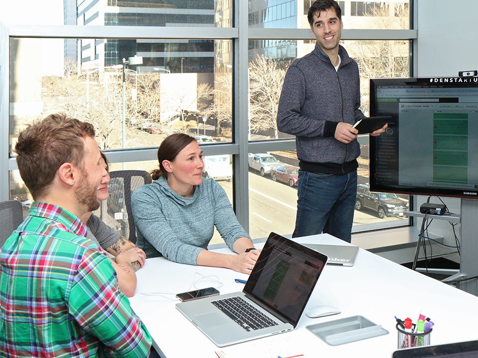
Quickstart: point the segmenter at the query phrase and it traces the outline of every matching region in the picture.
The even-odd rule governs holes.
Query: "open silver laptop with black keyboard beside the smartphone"
[[[242,292],[181,302],[176,308],[218,347],[291,331],[326,263],[327,256],[271,233]],[[230,307],[241,299],[260,312],[252,322],[238,319],[242,309]]]

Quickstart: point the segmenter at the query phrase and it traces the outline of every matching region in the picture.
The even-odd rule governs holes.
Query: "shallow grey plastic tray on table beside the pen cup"
[[[378,326],[362,316],[317,323],[315,325],[306,326],[305,328],[329,346],[340,346],[389,333],[386,329],[383,329],[382,326]]]

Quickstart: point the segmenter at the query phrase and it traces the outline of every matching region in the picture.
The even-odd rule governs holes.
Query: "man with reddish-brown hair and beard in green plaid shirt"
[[[89,123],[53,114],[15,151],[35,202],[0,249],[0,357],[147,357],[151,337],[79,217],[107,172]]]

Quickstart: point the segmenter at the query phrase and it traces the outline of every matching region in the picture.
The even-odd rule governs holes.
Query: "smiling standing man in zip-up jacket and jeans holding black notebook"
[[[351,242],[360,154],[352,126],[364,117],[359,67],[339,45],[344,25],[336,1],[315,1],[307,18],[317,42],[287,70],[277,114],[277,129],[296,136],[299,158],[292,237],[323,232]]]

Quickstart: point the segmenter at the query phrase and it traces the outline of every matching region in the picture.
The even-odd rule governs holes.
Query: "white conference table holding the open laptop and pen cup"
[[[350,245],[328,234],[294,240]],[[255,246],[262,247],[262,244]],[[215,251],[231,254],[228,248]],[[230,269],[183,265],[164,258],[147,259],[144,267],[136,272],[138,282],[136,293],[129,299],[131,306],[150,332],[153,346],[167,358],[215,358],[215,351],[223,351],[227,358],[391,357],[397,347],[393,316],[410,317],[416,322],[420,312],[435,323],[430,336],[432,345],[477,339],[474,324],[478,322],[478,297],[359,249],[353,267],[327,265],[324,268],[306,307],[307,310],[317,305],[333,305],[341,314],[309,318],[303,313],[292,332],[218,348],[175,307],[179,302],[173,300],[176,293],[195,289],[191,284],[200,277],[195,272],[216,275],[223,283],[219,288],[221,293],[241,291],[243,284],[234,279],[247,279],[246,274]],[[205,279],[196,283],[197,288],[210,286],[218,287],[218,283]],[[151,292],[164,293],[164,296],[141,294]],[[381,325],[390,333],[329,346],[305,328],[356,315]]]

